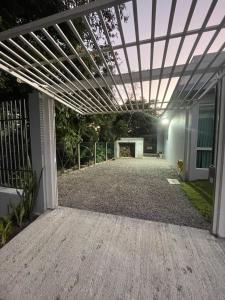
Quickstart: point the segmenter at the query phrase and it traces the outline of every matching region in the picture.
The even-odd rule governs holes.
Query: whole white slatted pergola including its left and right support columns
[[[82,115],[144,110],[162,116],[169,110],[176,113],[186,109],[217,84],[214,159],[216,187],[212,232],[225,237],[225,12],[220,8],[221,19],[214,20],[213,24],[209,22],[215,10],[218,10],[218,3],[222,3],[223,9],[225,3],[224,0],[209,0],[205,13],[197,14],[200,19],[198,26],[192,28],[190,25],[200,0],[190,0],[183,20],[184,27],[174,32],[173,23],[181,0],[171,0],[167,24],[162,20],[167,25],[166,33],[159,35],[159,1],[146,1],[150,3],[151,16],[145,20],[149,24],[146,28],[149,37],[145,39],[141,38],[143,16],[138,9],[141,1],[137,0],[96,0],[0,33],[0,70],[40,92],[29,97],[32,167],[37,174],[44,170],[37,211],[43,212],[58,205],[55,100]],[[130,24],[134,27],[133,41],[126,39],[120,15],[121,4],[129,6],[132,12]],[[104,17],[104,10],[107,9],[112,10],[115,16],[116,30],[120,35],[117,44],[108,32]],[[99,31],[103,33],[104,43],[102,38],[98,39],[98,31],[96,33],[89,23],[93,13],[100,22]],[[86,26],[92,47],[85,41],[79,28],[76,28],[77,18]],[[190,38],[191,47],[186,49]],[[176,46],[173,44],[175,40]],[[162,55],[155,67],[159,58],[159,43],[163,45]],[[171,44],[174,59],[168,65]],[[148,57],[143,57],[141,50],[146,45],[149,47]],[[129,51],[134,48],[136,57]],[[200,53],[198,49],[201,49]],[[185,58],[183,50],[186,50]],[[126,72],[118,52],[123,53]],[[109,56],[112,58],[110,63]],[[99,67],[96,58],[104,68]],[[136,70],[132,67],[134,60]],[[143,61],[147,61],[148,68],[143,65]]]

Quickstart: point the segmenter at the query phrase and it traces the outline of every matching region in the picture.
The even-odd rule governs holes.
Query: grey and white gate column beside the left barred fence
[[[43,170],[36,213],[58,206],[55,104],[50,97],[35,92],[29,97],[32,167],[37,176]]]

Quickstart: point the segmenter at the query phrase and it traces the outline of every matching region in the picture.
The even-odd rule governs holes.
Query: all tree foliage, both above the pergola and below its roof
[[[51,14],[64,11],[75,6],[79,6],[89,2],[88,0],[11,0],[1,1],[0,7],[0,30],[6,30],[16,25],[24,24],[42,17],[49,16]],[[127,20],[125,6],[120,6],[121,18]],[[106,26],[111,38],[117,35],[117,23],[114,12],[111,9],[103,11],[104,18],[106,20]],[[102,27],[100,26],[100,20],[96,13],[92,13],[88,16],[89,23],[92,30],[96,33],[101,47],[106,45],[105,39],[103,39]],[[92,43],[88,31],[85,28],[81,18],[73,20],[79,34],[85,41],[85,44],[89,49],[95,49],[95,45]],[[80,53],[81,49],[78,41],[71,35],[68,27],[63,27],[62,30],[72,40],[73,46],[77,52]],[[51,34],[53,34],[56,41],[59,41],[59,36],[53,28],[50,28]],[[38,33],[42,40],[45,37]],[[34,42],[34,41],[32,41]],[[45,39],[45,43],[48,41]],[[67,45],[60,43],[63,50],[67,53]],[[45,53],[43,53],[45,55]],[[93,67],[92,62],[88,56],[83,56],[82,59],[88,66],[89,70],[95,77],[98,77],[98,73]],[[105,59],[112,71],[114,71],[113,57],[110,54],[105,55]],[[103,62],[98,56],[94,56],[94,60],[103,74],[107,73]],[[80,71],[89,78],[89,74],[82,67],[78,60],[74,61],[79,67]],[[72,70],[71,70],[72,71]],[[27,95],[32,91],[32,88],[25,84],[18,84],[16,79],[6,73],[0,74],[0,98],[19,97],[21,95]],[[77,76],[79,78],[79,74]],[[107,89],[105,89],[108,93]],[[133,101],[133,100],[132,100]],[[57,136],[57,158],[59,167],[71,167],[76,161],[77,143],[79,142],[97,142],[97,141],[114,141],[119,137],[126,136],[141,136],[148,134],[153,128],[152,118],[143,113],[125,113],[125,114],[105,114],[105,115],[93,115],[93,116],[81,116],[76,112],[68,109],[57,103],[56,105],[56,136]]]

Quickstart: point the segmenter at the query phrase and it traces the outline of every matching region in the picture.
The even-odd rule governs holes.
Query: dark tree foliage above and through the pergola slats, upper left
[[[93,1],[93,0],[92,0]],[[89,0],[1,0],[1,6],[0,6],[0,31],[9,29],[11,27],[21,25],[24,23],[28,23],[30,21],[34,21],[49,15],[52,15],[54,13],[58,13],[64,10],[68,10],[71,8],[74,8],[76,6],[83,5],[85,3],[90,2]],[[120,6],[120,12],[121,12],[121,18],[126,20],[126,16],[124,16],[123,11],[125,9],[124,5]],[[106,25],[109,32],[109,35],[111,37],[115,36],[117,34],[117,24],[116,24],[116,18],[114,13],[111,9],[105,9],[103,11],[103,15],[106,19]],[[88,15],[89,22],[91,24],[92,30],[96,32],[97,40],[101,40],[102,46],[104,46],[104,43],[102,42],[104,39],[102,27],[100,26],[100,20],[96,13],[92,13]],[[95,46],[91,42],[91,38],[89,36],[89,33],[87,32],[84,23],[82,22],[81,18],[76,18],[73,20],[78,32],[80,33],[81,37],[85,40],[86,45],[89,47],[89,49],[94,49]],[[78,47],[77,51],[79,53],[79,45],[78,41],[74,38],[70,30],[68,30],[68,27],[65,27],[65,25],[62,26],[62,29],[64,32],[66,32],[66,35],[71,39],[71,42],[74,47]],[[51,31],[51,34],[54,35],[55,40],[59,40],[59,35],[54,31],[52,28],[49,29]],[[40,32],[38,33],[39,37],[41,37],[42,40],[45,40],[46,43],[49,43],[43,34]],[[34,42],[34,41],[32,41]],[[105,42],[106,43],[106,42]],[[60,44],[63,47],[64,51],[66,52],[67,45],[60,39]],[[81,49],[80,49],[81,51]],[[44,54],[44,53],[43,53]],[[107,62],[112,66],[112,57],[110,55],[105,56]],[[93,66],[90,62],[90,59],[88,57],[83,58],[89,69],[92,69]],[[104,71],[102,62],[99,59],[99,57],[95,57],[97,65]],[[75,61],[75,63],[79,66],[82,73],[87,76],[86,71],[83,69],[83,67],[80,65],[79,61]],[[1,71],[0,71],[1,72]],[[106,72],[106,70],[105,70]],[[25,84],[18,84],[16,79],[11,77],[11,75],[6,74],[5,72],[1,72],[0,77],[0,96],[2,97],[11,97],[11,96],[17,96],[17,95],[25,95],[29,93],[32,89],[25,85]],[[98,76],[95,74],[95,76]],[[78,76],[79,77],[79,76]]]

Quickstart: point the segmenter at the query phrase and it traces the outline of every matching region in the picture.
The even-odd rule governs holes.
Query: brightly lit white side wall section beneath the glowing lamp
[[[164,133],[165,158],[176,167],[179,159],[184,160],[186,111],[177,112],[166,126],[168,128]]]

